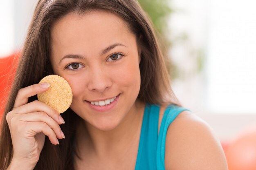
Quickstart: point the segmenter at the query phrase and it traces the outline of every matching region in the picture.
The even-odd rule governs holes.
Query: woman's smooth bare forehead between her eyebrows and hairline
[[[58,20],[51,31],[54,56],[68,53],[96,55],[108,45],[119,43],[129,47],[134,42],[136,37],[126,22],[106,11],[91,11],[85,15],[70,13]]]

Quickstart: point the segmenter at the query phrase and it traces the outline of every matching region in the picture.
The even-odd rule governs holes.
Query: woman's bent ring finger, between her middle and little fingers
[[[45,122],[50,128],[52,128],[58,139],[65,138],[65,135],[58,123],[44,112],[27,113],[22,115],[18,114],[18,119],[26,122]]]

